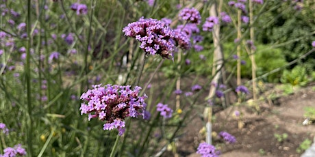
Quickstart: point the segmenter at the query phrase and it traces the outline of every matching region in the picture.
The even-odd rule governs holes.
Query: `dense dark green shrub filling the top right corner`
[[[266,12],[257,21],[257,40],[264,44],[272,44],[281,48],[286,61],[292,61],[297,57],[307,53],[312,49],[312,41],[314,40],[314,19],[313,14],[315,6],[314,1],[305,1],[298,3],[303,5],[302,10],[294,10],[293,1],[269,1],[267,4],[273,6],[273,10]],[[283,8],[286,8],[283,10]],[[292,18],[294,16],[294,18]],[[314,69],[315,54],[307,56],[301,61],[305,66]],[[296,65],[293,65],[293,68]]]

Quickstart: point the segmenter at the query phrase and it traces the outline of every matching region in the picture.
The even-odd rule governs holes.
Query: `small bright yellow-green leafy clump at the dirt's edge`
[[[284,70],[281,76],[281,83],[304,86],[308,83],[306,69],[303,66],[296,66],[292,70]]]

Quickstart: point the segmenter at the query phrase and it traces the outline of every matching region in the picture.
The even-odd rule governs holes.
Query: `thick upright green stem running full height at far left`
[[[27,154],[33,156],[33,119],[31,111],[31,72],[30,72],[30,48],[31,48],[31,0],[27,0],[27,52],[26,52],[26,91],[27,91]]]

